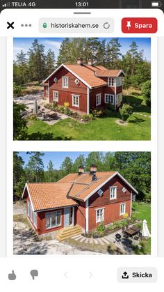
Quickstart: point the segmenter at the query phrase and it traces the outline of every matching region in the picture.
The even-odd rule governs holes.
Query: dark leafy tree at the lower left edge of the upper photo
[[[22,118],[22,112],[26,111],[25,105],[19,105],[13,102],[13,139],[26,140],[27,139],[27,126],[26,119]]]

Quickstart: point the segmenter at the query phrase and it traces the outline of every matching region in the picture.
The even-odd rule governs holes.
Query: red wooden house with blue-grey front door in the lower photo
[[[131,203],[138,192],[117,171],[90,172],[79,167],[57,183],[26,183],[22,198],[36,233],[65,230],[89,232],[100,222],[110,224],[131,216]],[[75,226],[75,227],[74,227]],[[75,234],[76,235],[76,234]]]

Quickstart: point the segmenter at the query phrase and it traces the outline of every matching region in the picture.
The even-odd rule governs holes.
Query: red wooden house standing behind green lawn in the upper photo
[[[122,70],[108,70],[95,66],[92,61],[84,65],[78,59],[76,65],[62,64],[44,80],[44,96],[48,102],[64,105],[78,112],[90,113],[90,109],[105,107],[110,103],[117,109],[122,104]]]

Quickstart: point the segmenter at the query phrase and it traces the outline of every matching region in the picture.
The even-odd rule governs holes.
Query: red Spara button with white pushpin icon
[[[156,33],[158,22],[155,17],[122,18],[123,33]]]

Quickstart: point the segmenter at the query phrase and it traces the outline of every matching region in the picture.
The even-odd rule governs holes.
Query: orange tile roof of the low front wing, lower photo
[[[77,203],[67,199],[72,183],[27,183],[34,210],[75,206]]]

